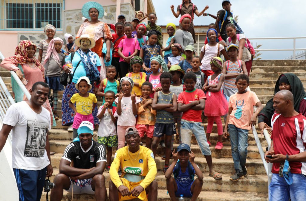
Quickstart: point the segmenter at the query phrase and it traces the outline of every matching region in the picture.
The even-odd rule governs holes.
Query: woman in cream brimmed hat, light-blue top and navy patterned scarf
[[[68,66],[64,66],[63,69],[66,73],[72,73],[73,78],[70,84],[67,84],[63,98],[62,98],[62,125],[70,126],[68,131],[73,131],[73,116],[74,110],[69,107],[69,100],[73,94],[79,91],[76,88],[76,83],[80,77],[88,77],[92,88],[89,93],[96,94],[98,91],[98,85],[100,84],[100,73],[98,68],[101,66],[99,56],[90,50],[95,47],[95,40],[90,38],[88,34],[81,35],[80,38],[75,40],[75,44],[79,49],[76,52],[72,52],[66,57],[65,61],[71,61],[73,69],[69,69]],[[94,117],[94,124],[99,124],[97,118],[98,108],[94,107],[92,115]]]

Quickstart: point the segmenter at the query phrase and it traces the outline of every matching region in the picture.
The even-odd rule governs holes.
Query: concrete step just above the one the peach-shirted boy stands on
[[[54,156],[51,156],[51,164],[53,168],[59,168],[59,162],[62,158],[62,153],[56,153]],[[112,161],[114,159],[114,156],[112,156]],[[170,159],[171,164],[173,162],[173,159]],[[198,157],[195,159],[196,164],[200,167],[200,170],[202,170],[203,174],[208,174],[209,169],[207,166],[207,162],[205,158]],[[222,174],[233,174],[234,172],[234,163],[233,159],[231,158],[212,158],[212,162],[214,165],[214,170],[216,172],[222,173]],[[162,160],[160,156],[155,157],[155,163],[157,170],[162,170],[165,165],[165,160]],[[248,175],[266,175],[266,171],[263,167],[263,162],[261,159],[247,159],[246,161],[246,167],[248,169]]]

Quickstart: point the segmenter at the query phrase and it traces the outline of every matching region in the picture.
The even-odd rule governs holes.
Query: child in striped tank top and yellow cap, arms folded
[[[238,46],[230,44],[227,47],[227,53],[230,56],[230,60],[223,63],[222,73],[225,76],[224,81],[224,93],[230,97],[238,92],[235,85],[236,77],[240,74],[248,75],[248,71],[245,68],[244,61],[238,60]]]

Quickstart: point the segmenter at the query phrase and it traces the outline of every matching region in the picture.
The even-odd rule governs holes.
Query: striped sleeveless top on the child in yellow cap
[[[230,63],[229,63],[230,62]],[[226,61],[226,74],[238,74],[242,72],[241,68],[241,61],[237,60],[235,63],[231,61]],[[235,85],[236,77],[233,78],[225,78],[224,81],[224,88],[229,88],[229,89],[237,89]]]

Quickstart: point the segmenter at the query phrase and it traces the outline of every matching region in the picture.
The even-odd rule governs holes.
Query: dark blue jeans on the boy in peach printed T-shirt
[[[232,145],[232,157],[235,170],[242,172],[248,154],[248,130],[237,128],[233,124],[228,125],[230,133],[230,143]]]

